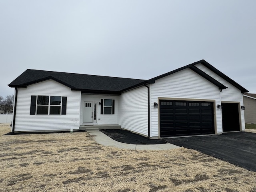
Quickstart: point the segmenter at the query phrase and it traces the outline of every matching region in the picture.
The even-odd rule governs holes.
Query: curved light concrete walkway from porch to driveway
[[[104,133],[99,130],[88,130],[86,131],[98,144],[102,144],[104,146],[114,146],[120,149],[133,149],[133,150],[168,150],[168,149],[177,149],[179,146],[165,143],[165,144],[154,144],[154,145],[136,145],[136,144],[128,144],[121,143],[113,140],[109,136],[106,136]]]

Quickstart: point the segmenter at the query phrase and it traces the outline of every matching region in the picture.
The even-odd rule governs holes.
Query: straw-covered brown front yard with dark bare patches
[[[0,191],[255,192],[256,173],[195,150],[120,150],[86,132],[10,135],[0,124]]]

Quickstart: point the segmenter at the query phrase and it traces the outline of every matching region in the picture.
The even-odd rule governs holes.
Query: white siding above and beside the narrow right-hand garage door
[[[216,79],[218,82],[228,87],[227,89],[222,90],[222,92],[220,93],[221,101],[239,102],[240,106],[244,105],[243,94],[241,93],[241,90],[234,87],[232,84],[230,84],[229,82],[227,82],[226,80],[224,80],[223,78],[221,78],[220,76],[212,72],[210,69],[208,69],[204,65],[197,64],[196,67],[204,71],[206,74],[212,76],[212,78]],[[240,112],[241,112],[241,120],[242,120],[242,130],[245,130],[244,110],[240,110]]]

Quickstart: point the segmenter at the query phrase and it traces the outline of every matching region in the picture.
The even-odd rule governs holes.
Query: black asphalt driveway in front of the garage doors
[[[256,134],[249,132],[163,139],[256,172]]]

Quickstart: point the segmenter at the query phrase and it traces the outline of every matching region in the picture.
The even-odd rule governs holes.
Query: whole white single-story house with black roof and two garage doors
[[[13,132],[119,125],[160,138],[245,130],[248,90],[205,60],[150,80],[28,69],[9,86]]]

